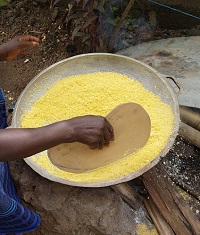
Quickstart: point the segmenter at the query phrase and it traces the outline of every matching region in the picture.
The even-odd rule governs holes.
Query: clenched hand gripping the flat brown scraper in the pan
[[[68,120],[72,128],[71,142],[87,144],[92,149],[103,148],[114,139],[113,127],[102,116],[86,115]]]

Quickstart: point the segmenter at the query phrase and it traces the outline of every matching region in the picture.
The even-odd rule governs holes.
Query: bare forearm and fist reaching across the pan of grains
[[[101,116],[82,116],[39,128],[0,130],[0,161],[29,157],[61,143],[80,142],[102,148],[113,139],[110,123]]]

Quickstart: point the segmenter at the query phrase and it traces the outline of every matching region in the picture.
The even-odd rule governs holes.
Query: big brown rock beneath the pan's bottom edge
[[[41,226],[31,234],[135,235],[135,217],[147,220],[145,212],[133,211],[110,187],[51,182],[23,160],[11,162],[10,169],[22,202],[41,216]]]

